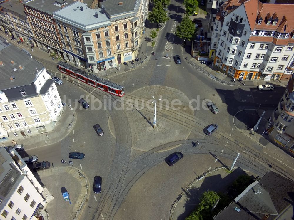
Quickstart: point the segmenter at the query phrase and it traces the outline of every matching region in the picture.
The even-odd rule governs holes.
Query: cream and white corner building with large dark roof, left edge
[[[52,131],[63,108],[50,74],[1,37],[0,54],[0,141]]]

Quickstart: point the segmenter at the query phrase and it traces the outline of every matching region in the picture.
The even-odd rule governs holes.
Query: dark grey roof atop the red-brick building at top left
[[[34,8],[36,10],[45,12],[47,14],[52,15],[53,12],[58,11],[61,9],[61,6],[64,5],[65,7],[75,3],[75,1],[72,0],[28,0],[26,2],[23,2],[24,5],[27,5],[31,8]]]

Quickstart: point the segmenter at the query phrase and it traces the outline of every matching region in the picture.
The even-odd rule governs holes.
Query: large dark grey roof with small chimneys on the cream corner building
[[[1,91],[31,85],[36,77],[36,68],[39,70],[44,68],[28,51],[20,50],[14,45],[7,44],[1,36],[0,57],[0,61],[3,62],[3,65],[0,66]],[[13,61],[13,64],[11,61]]]

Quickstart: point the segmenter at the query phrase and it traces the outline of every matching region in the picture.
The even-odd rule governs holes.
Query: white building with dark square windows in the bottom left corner
[[[42,209],[53,199],[13,149],[0,147],[0,219],[48,219]],[[49,196],[50,195],[50,196]],[[47,198],[48,196],[48,198]]]

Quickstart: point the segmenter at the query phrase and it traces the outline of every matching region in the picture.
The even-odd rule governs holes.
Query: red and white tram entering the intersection
[[[61,73],[64,73],[73,78],[76,78],[77,80],[83,83],[86,83],[95,88],[108,92],[112,95],[122,97],[125,94],[125,91],[123,90],[122,85],[118,85],[108,80],[101,79],[98,76],[95,76],[91,73],[87,73],[79,68],[76,68],[75,66],[71,66],[62,61],[57,63],[57,68],[59,69]]]

